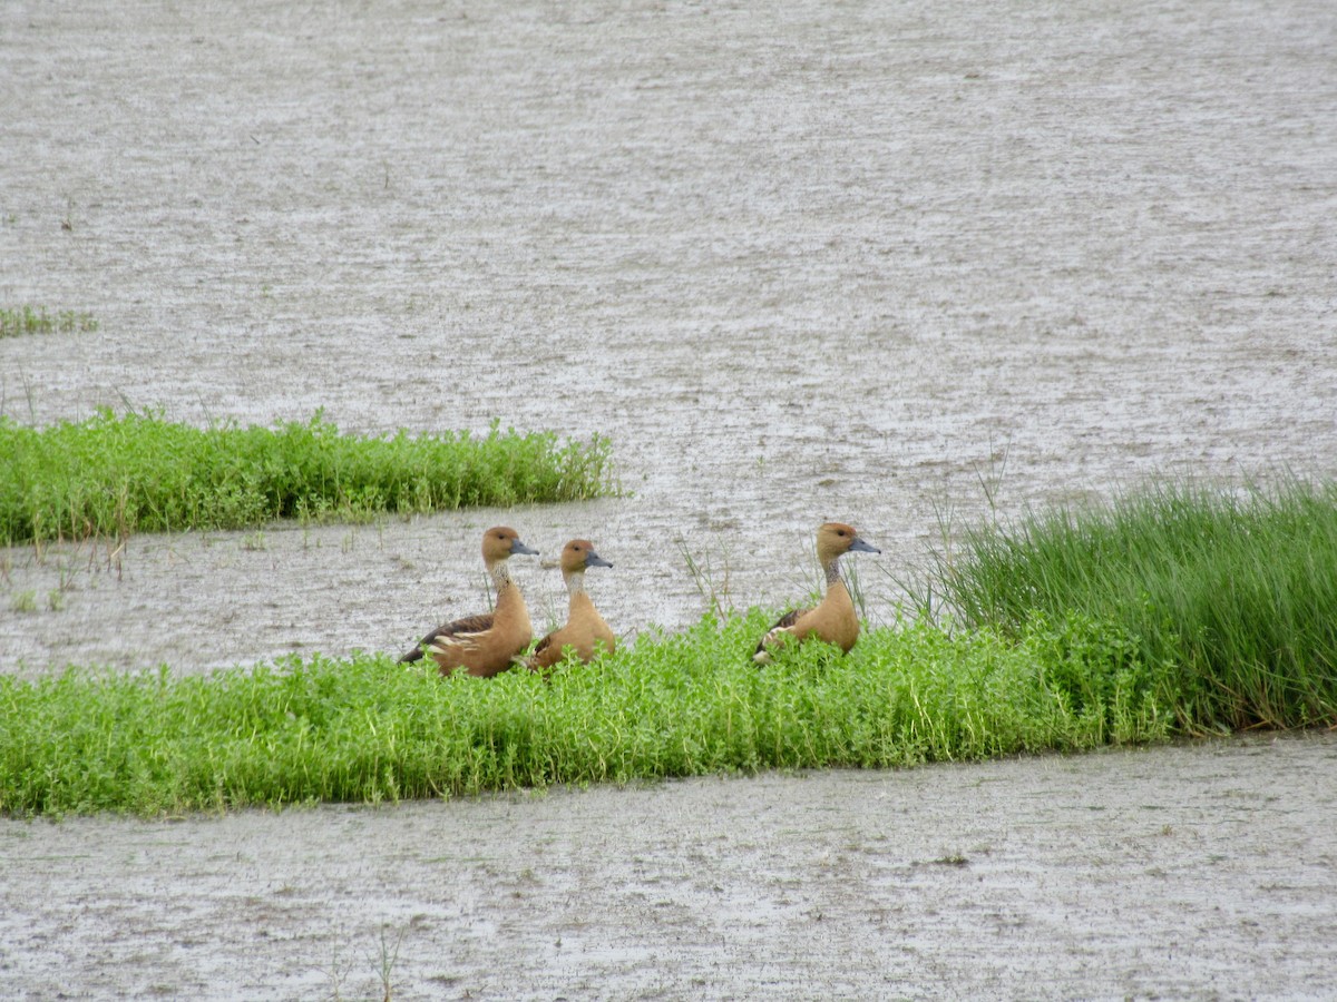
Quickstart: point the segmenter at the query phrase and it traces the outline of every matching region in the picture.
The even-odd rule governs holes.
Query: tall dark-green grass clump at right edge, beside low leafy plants
[[[1118,627],[1189,731],[1337,723],[1337,485],[1157,485],[968,533],[933,572],[972,628]]]

